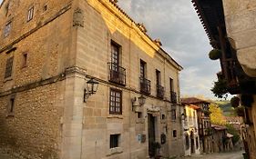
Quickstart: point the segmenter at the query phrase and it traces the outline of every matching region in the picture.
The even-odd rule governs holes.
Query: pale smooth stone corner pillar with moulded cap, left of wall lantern
[[[62,133],[62,159],[80,159],[83,134],[85,73],[76,67],[67,70]]]

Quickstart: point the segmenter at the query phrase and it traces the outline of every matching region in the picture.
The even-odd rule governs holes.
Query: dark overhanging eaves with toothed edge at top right
[[[200,21],[209,37],[210,42],[217,41],[218,26],[225,26],[222,0],[192,0]],[[211,43],[213,47],[213,45]]]

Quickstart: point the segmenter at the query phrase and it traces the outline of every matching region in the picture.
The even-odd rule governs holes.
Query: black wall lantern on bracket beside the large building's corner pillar
[[[87,81],[87,86],[84,89],[84,102],[85,103],[87,102],[87,99],[91,94],[96,94],[97,86],[98,86],[98,82],[94,78],[91,78],[90,80]]]

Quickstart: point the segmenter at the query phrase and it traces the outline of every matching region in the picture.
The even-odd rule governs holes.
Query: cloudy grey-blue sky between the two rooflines
[[[181,95],[214,98],[210,88],[220,62],[208,58],[209,40],[189,0],[118,0],[118,5],[146,25],[153,39],[160,38],[162,47],[184,67]]]

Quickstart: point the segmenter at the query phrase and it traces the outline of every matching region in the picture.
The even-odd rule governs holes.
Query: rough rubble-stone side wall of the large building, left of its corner
[[[5,6],[9,3],[8,14],[5,14]],[[34,17],[27,22],[27,12],[32,5],[35,9]],[[67,0],[6,0],[2,5],[1,151],[32,159],[58,158],[61,152],[65,91],[65,83],[61,82],[61,78],[65,76],[66,68],[72,65],[72,42],[69,38],[72,29],[70,26],[73,23],[72,13],[71,4]],[[4,37],[5,24],[10,20],[10,34]],[[5,78],[6,60],[12,56],[12,75]],[[14,111],[10,114],[13,97]]]

